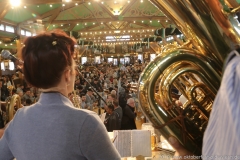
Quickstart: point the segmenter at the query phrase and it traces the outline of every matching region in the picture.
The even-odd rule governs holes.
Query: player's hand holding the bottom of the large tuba
[[[175,138],[175,137],[169,137],[168,142],[171,144],[171,146],[176,150],[173,160],[178,160],[178,159],[188,159],[188,160],[193,160],[189,159],[189,156],[193,156],[193,153],[189,152],[186,150],[182,144]],[[196,160],[196,159],[194,159]]]

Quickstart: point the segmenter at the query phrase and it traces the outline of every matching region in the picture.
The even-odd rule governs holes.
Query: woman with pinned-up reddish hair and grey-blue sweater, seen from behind
[[[24,41],[24,77],[42,93],[37,103],[19,109],[5,129],[0,159],[121,159],[99,116],[75,108],[67,97],[76,75],[74,45],[56,30]]]

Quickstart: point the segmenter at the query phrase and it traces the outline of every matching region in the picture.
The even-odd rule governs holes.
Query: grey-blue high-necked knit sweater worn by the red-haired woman
[[[97,114],[60,93],[19,109],[0,139],[0,160],[120,160]]]

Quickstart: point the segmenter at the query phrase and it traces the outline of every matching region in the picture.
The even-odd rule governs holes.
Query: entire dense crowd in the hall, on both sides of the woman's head
[[[141,61],[119,66],[113,66],[112,63],[78,65],[74,91],[68,94],[68,98],[77,108],[92,110],[99,116],[104,115],[104,124],[108,131],[136,129],[134,119],[138,100],[130,88],[145,65]],[[42,92],[27,83],[21,71],[13,75],[3,75],[0,87],[1,101],[9,101],[13,94],[18,94],[22,106],[36,103]],[[5,113],[5,108],[1,108]],[[3,125],[0,126],[2,127]]]

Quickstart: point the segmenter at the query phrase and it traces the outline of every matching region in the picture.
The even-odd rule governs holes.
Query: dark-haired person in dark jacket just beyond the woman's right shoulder
[[[104,124],[107,128],[107,131],[112,132],[113,130],[118,130],[120,128],[119,115],[117,115],[117,112],[114,112],[113,104],[108,104],[106,111],[108,116],[104,120]]]

